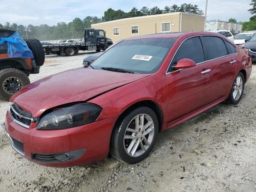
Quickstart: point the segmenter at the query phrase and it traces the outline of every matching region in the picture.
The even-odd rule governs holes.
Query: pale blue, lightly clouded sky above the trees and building
[[[71,22],[75,17],[104,16],[108,8],[129,12],[133,7],[140,10],[143,6],[158,6],[191,3],[205,10],[206,0],[0,0],[0,24],[5,22],[28,24],[56,25],[58,22]],[[249,21],[252,16],[248,9],[251,0],[208,0],[207,20],[224,20],[236,18]]]

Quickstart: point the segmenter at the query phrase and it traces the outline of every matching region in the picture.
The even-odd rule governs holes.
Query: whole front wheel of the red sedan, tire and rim
[[[110,154],[120,161],[135,164],[148,156],[158,135],[158,118],[148,107],[126,114],[115,126]]]

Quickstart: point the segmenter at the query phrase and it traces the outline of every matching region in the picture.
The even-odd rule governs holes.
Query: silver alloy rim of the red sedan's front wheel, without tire
[[[148,114],[135,116],[124,134],[124,149],[131,157],[144,154],[154,138],[154,122]]]

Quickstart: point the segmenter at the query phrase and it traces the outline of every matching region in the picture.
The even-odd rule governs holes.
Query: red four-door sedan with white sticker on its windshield
[[[12,147],[44,166],[148,156],[158,132],[226,101],[237,104],[252,71],[247,50],[211,32],[123,40],[88,68],[17,92],[3,124]]]

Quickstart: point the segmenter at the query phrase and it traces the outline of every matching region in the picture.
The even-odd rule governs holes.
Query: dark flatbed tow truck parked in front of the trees
[[[45,53],[74,56],[79,50],[100,51],[112,45],[111,39],[106,38],[106,32],[100,29],[85,29],[84,42],[82,43],[57,43],[43,45]]]

